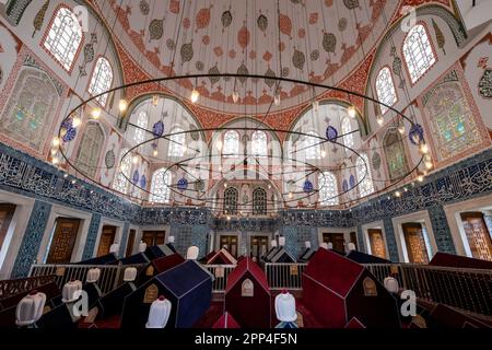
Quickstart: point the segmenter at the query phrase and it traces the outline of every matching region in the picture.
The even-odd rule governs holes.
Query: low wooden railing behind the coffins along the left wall
[[[71,280],[80,280],[85,282],[87,271],[90,269],[101,269],[101,277],[97,285],[103,294],[106,294],[122,283],[125,269],[128,267],[136,267],[138,271],[143,269],[147,265],[33,265],[31,267],[30,276],[54,276],[55,283],[62,289],[65,283]]]

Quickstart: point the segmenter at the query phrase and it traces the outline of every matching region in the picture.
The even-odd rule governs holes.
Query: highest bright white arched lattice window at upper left
[[[81,43],[82,27],[79,20],[68,8],[60,8],[55,14],[43,46],[67,71],[70,71]]]

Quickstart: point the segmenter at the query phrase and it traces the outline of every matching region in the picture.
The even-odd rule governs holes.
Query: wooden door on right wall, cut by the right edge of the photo
[[[492,261],[492,242],[481,212],[461,213],[461,220],[473,258]]]

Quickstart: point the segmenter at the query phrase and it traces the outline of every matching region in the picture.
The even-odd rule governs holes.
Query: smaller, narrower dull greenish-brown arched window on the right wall
[[[389,179],[400,179],[408,173],[407,155],[401,135],[396,129],[386,132],[383,140]]]

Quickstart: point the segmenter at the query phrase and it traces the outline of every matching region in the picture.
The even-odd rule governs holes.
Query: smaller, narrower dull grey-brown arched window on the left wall
[[[89,122],[77,153],[75,166],[87,177],[97,173],[99,155],[104,144],[104,132],[98,122]]]

